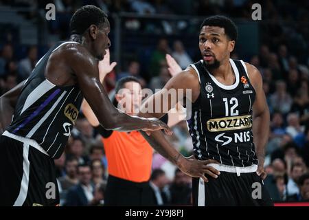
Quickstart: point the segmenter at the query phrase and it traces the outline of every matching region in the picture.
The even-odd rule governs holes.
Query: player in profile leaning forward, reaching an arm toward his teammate
[[[0,98],[0,206],[59,203],[54,159],[67,144],[83,97],[105,129],[170,133],[160,120],[130,117],[108,99],[98,69],[111,45],[106,14],[84,6],[70,28],[71,39],[52,47],[25,82]]]

